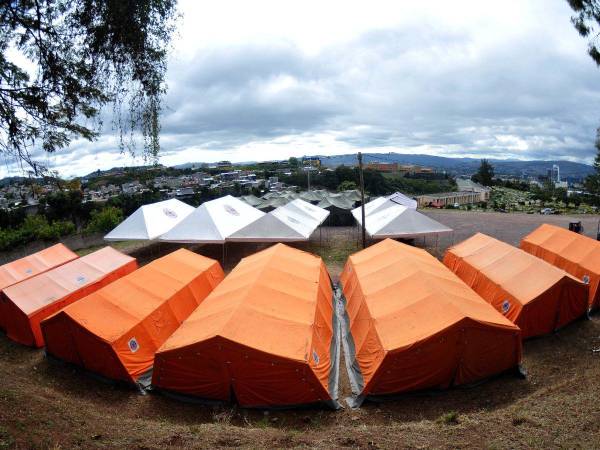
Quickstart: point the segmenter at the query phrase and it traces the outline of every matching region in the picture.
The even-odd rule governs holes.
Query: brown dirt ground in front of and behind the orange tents
[[[482,231],[507,242],[564,216],[428,211],[458,242]],[[598,217],[584,217],[595,236]],[[441,239],[438,254],[452,243]],[[420,244],[417,242],[417,244]],[[320,253],[334,278],[357,249],[352,228],[326,229],[302,248]],[[435,250],[435,241],[426,246]],[[141,263],[176,248],[123,249]],[[222,258],[219,246],[193,247]],[[232,244],[226,268],[256,246]],[[600,316],[525,343],[526,379],[512,375],[476,387],[365,403],[358,410],[244,410],[180,403],[103,384],[51,363],[42,351],[0,336],[2,448],[599,448]],[[345,377],[344,371],[342,376]],[[340,397],[347,395],[342,379]]]

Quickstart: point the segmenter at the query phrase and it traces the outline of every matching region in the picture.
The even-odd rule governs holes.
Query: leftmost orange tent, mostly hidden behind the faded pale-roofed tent
[[[77,258],[77,254],[67,247],[56,244],[33,255],[4,264],[0,266],[0,290]],[[0,301],[0,329],[6,330],[6,324],[4,323],[6,314],[2,309],[3,304]]]

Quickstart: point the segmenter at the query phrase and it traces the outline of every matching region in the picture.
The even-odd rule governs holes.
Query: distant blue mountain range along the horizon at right
[[[321,163],[327,167],[337,167],[342,164],[356,164],[356,155],[334,155],[318,156]],[[430,155],[406,155],[402,153],[369,153],[363,155],[363,161],[368,162],[393,162],[400,164],[414,164],[419,166],[433,167],[438,170],[445,170],[453,175],[469,175],[477,171],[480,159],[476,158],[446,158],[443,156]],[[560,167],[561,178],[582,179],[594,172],[594,168],[588,164],[576,163],[571,161],[520,161],[504,159],[488,159],[494,166],[497,175],[514,176],[538,176],[546,175],[548,169],[556,164]]]

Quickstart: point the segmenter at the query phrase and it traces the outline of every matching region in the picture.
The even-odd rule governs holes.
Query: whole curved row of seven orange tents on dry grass
[[[442,263],[385,240],[349,257],[339,290],[283,244],[226,277],[184,249],[138,269],[110,247],[59,245],[0,267],[0,327],[108,379],[247,407],[336,407],[343,347],[358,405],[517,369],[524,338],[597,306],[598,245],[544,225],[522,249],[477,234]]]

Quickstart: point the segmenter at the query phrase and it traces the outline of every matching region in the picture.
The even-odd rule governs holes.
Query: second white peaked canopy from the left
[[[265,213],[226,195],[203,203],[179,225],[160,237],[161,241],[223,244],[225,239]]]

